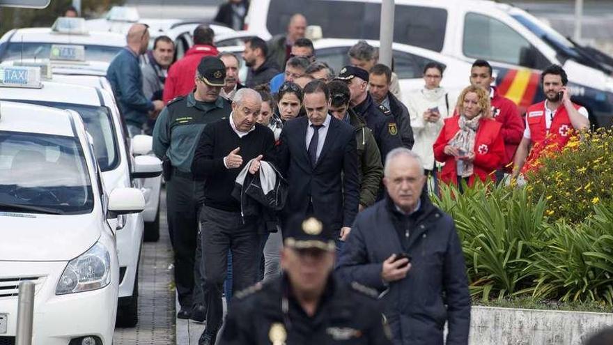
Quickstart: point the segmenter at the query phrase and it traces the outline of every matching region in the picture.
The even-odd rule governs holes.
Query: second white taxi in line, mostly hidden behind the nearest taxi
[[[36,75],[37,68],[3,67],[24,70]],[[0,75],[2,73],[0,72]],[[39,85],[39,86],[37,86]],[[0,84],[3,100],[45,105],[77,112],[92,137],[95,158],[102,171],[102,181],[107,190],[116,187],[133,187],[133,180],[159,176],[162,172],[159,159],[150,156],[132,157],[127,146],[113,96],[100,88],[61,84],[49,81],[30,81],[30,87],[15,87],[15,83]],[[119,217],[116,224],[119,253],[119,325],[134,326],[138,321],[138,267],[143,240],[142,215]]]

